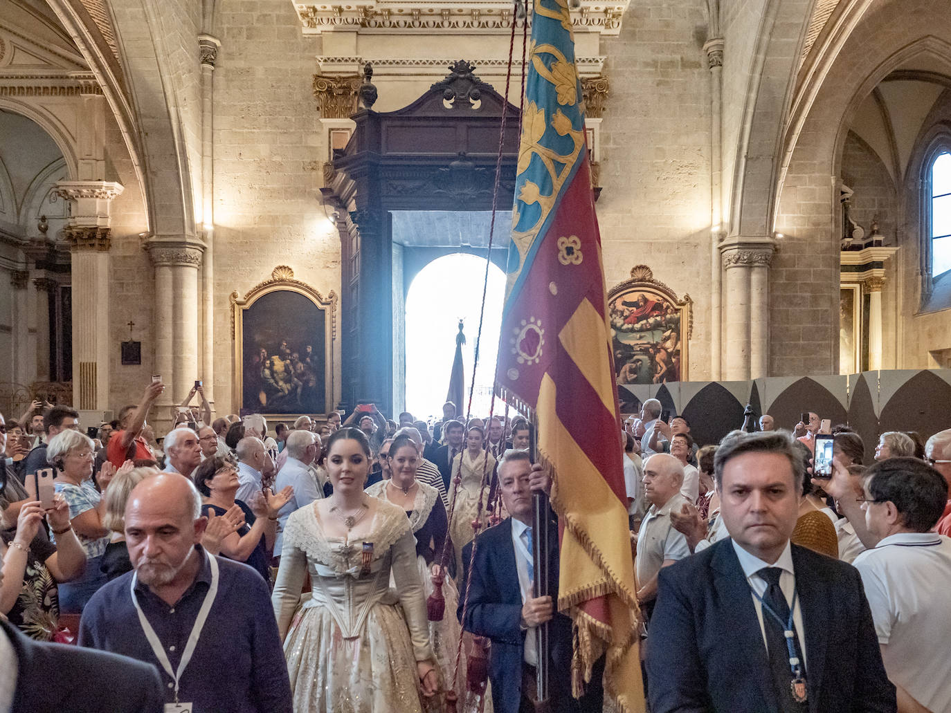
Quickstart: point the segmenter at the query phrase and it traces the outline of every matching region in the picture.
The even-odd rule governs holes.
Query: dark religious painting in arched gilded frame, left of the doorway
[[[282,266],[283,267],[283,266]],[[244,299],[232,295],[243,413],[323,414],[333,398],[330,360],[336,297],[276,268]]]

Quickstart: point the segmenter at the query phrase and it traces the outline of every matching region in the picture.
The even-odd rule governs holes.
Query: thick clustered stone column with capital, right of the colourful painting
[[[767,376],[769,265],[776,242],[767,236],[740,237],[719,246],[726,271],[726,369],[729,381]]]

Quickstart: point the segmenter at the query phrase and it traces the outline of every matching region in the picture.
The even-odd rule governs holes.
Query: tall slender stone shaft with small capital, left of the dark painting
[[[215,233],[214,233],[214,71],[222,43],[208,34],[198,36],[202,56],[202,223],[204,260],[200,276],[202,293],[202,358],[199,376],[204,397],[215,405]]]

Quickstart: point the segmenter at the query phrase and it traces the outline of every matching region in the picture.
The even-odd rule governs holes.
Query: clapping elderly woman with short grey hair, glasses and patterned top
[[[47,460],[56,468],[56,492],[62,493],[69,506],[69,523],[86,550],[86,573],[59,587],[60,610],[64,614],[82,613],[89,598],[107,582],[100,571],[103,555],[109,544],[109,530],[103,524],[106,515],[106,492],[115,468],[108,462],[96,476],[99,489],[92,482],[92,464],[96,452],[86,434],[67,429],[54,435],[47,447]],[[127,466],[127,468],[126,468]],[[123,465],[130,469],[131,462]]]

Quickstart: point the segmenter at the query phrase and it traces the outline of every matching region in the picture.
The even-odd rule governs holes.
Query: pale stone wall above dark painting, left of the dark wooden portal
[[[232,400],[228,296],[285,264],[326,297],[340,294],[340,238],[320,203],[322,144],[311,83],[320,39],[285,0],[224,0],[215,82],[215,397]],[[336,359],[339,363],[339,356]]]

